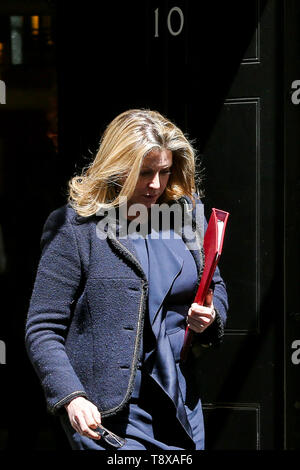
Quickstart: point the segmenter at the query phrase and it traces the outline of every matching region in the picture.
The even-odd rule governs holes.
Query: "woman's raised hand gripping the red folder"
[[[196,333],[203,333],[212,324],[216,317],[216,312],[212,300],[212,291],[206,296],[205,304],[193,303],[188,311],[187,325]]]

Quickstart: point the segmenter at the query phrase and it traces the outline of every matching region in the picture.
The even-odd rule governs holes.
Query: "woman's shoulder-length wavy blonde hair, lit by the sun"
[[[196,153],[183,132],[157,111],[130,109],[106,128],[96,157],[80,176],[68,182],[68,202],[84,217],[100,208],[129,200],[136,187],[143,158],[153,149],[170,150],[172,173],[159,203],[187,195],[194,202]],[[124,199],[123,199],[124,201]]]

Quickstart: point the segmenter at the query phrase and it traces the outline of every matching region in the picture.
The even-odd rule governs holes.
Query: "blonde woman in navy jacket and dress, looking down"
[[[158,112],[129,110],[48,217],[26,345],[73,449],[204,448],[195,354],[221,341],[227,295],[217,270],[213,302],[193,303],[204,261],[201,204],[182,131]],[[174,217],[165,230],[174,208],[180,224]],[[182,364],[187,324],[195,334]]]

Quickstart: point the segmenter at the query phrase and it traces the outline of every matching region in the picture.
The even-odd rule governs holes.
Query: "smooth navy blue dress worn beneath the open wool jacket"
[[[131,238],[149,280],[148,312],[132,397],[116,415],[104,417],[102,424],[126,438],[119,450],[202,450],[201,401],[188,399],[186,385],[181,388],[177,377],[187,305],[194,300],[198,279],[194,258],[181,238],[164,239],[162,232],[159,239]],[[171,342],[177,357],[170,353]],[[78,434],[66,414],[62,424],[73,449],[112,450],[103,439]]]

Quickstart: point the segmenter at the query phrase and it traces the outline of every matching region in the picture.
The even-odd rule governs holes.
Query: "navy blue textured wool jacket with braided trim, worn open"
[[[191,203],[188,198],[176,203],[186,202]],[[202,204],[199,199],[197,203]],[[80,217],[66,204],[49,215],[43,228],[26,348],[52,413],[72,398],[85,396],[102,416],[113,415],[128,403],[135,383],[148,281],[132,241],[110,231],[100,239],[98,222],[98,216]],[[197,223],[200,229],[204,221]],[[199,284],[202,246],[193,246],[191,253]],[[224,333],[227,295],[218,269],[213,281],[216,319],[195,335],[195,347],[217,344]],[[192,370],[193,364],[191,350],[186,367]]]

